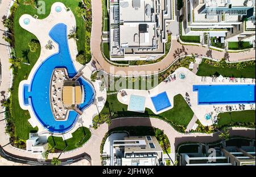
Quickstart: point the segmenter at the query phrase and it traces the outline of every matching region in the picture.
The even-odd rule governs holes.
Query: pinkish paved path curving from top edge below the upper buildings
[[[177,57],[187,54],[198,54],[208,56],[210,58],[221,60],[221,58],[228,58],[229,61],[243,61],[255,58],[255,50],[251,49],[245,52],[239,53],[226,53],[218,52],[217,50],[210,50],[205,47],[198,47],[194,45],[181,45],[177,40],[172,40],[172,46],[167,56],[160,62],[151,65],[141,66],[113,66],[109,64],[102,57],[101,53],[101,35],[102,35],[102,1],[92,1],[93,9],[93,26],[92,26],[92,62],[96,65],[97,70],[103,70],[109,74],[115,75],[144,75],[145,73],[154,73],[162,71],[170,66]],[[181,49],[181,51],[180,51]],[[183,51],[182,51],[183,49]],[[175,54],[175,50],[180,51],[179,55]]]

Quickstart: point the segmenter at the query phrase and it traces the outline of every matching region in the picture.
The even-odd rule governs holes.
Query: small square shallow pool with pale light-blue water
[[[144,96],[131,95],[129,103],[129,111],[144,112],[146,98]]]

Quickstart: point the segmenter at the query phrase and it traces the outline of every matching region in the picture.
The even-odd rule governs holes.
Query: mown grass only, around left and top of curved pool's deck
[[[16,127],[16,134],[19,138],[27,139],[29,136],[29,133],[31,130],[37,130],[33,129],[31,125],[28,123],[28,119],[30,118],[30,115],[27,111],[23,111],[23,109],[19,106],[18,101],[18,87],[20,81],[23,81],[24,79],[28,78],[28,75],[30,74],[31,69],[35,65],[36,61],[38,60],[40,56],[40,50],[37,50],[35,53],[29,52],[28,48],[28,42],[30,42],[32,39],[36,39],[32,33],[26,31],[22,27],[19,26],[19,18],[23,14],[30,14],[34,16],[35,14],[38,15],[39,19],[46,18],[49,14],[49,11],[51,9],[51,5],[55,2],[63,2],[67,7],[70,7],[73,14],[75,14],[76,17],[76,24],[77,24],[77,36],[79,37],[79,41],[77,41],[77,48],[78,51],[84,51],[85,50],[85,22],[81,18],[80,15],[76,12],[76,7],[78,7],[80,0],[46,0],[46,14],[40,15],[37,14],[37,10],[32,6],[23,5],[23,0],[20,1],[20,5],[18,9],[14,13],[14,38],[15,38],[15,53],[16,57],[23,57],[23,62],[28,62],[30,65],[24,65],[22,64],[21,69],[16,71],[16,75],[14,77],[13,82],[13,103],[12,103],[12,115]]]

